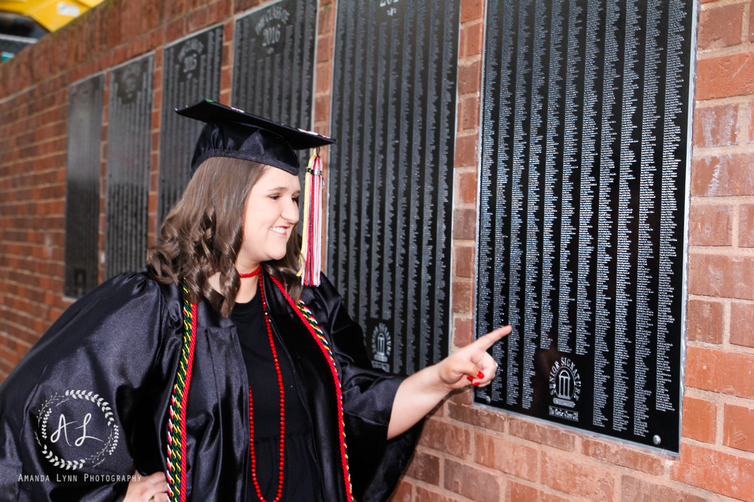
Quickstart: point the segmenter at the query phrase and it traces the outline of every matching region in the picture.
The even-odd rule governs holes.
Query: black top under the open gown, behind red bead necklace
[[[280,387],[277,384],[272,350],[262,310],[262,297],[257,292],[248,303],[237,303],[231,320],[238,330],[241,354],[246,364],[253,398],[254,455],[259,489],[266,500],[277,496],[280,463]],[[280,374],[285,390],[285,458],[281,501],[306,502],[322,500],[314,442],[306,409],[296,388],[296,375],[283,345],[274,339]],[[247,488],[248,500],[259,500],[251,473]]]

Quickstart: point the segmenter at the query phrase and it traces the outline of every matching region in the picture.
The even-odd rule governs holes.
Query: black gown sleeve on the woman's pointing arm
[[[325,331],[340,367],[354,498],[360,502],[387,500],[413,454],[423,421],[387,439],[395,394],[406,377],[372,368],[363,330],[348,315],[341,296],[324,275],[317,292],[325,305]]]

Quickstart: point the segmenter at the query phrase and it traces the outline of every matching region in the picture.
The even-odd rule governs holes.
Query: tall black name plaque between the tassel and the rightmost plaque
[[[395,372],[448,354],[458,8],[338,4],[327,270]]]

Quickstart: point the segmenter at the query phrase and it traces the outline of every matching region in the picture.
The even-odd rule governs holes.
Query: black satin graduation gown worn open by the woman
[[[311,420],[326,500],[345,502],[333,377],[270,278],[265,299]],[[360,327],[332,284],[302,300],[333,351],[356,500],[385,500],[419,427],[388,441],[401,377],[371,368]],[[142,273],[107,280],[69,307],[0,387],[0,500],[122,500],[128,476],[166,470],[168,407],[182,344],[181,297]],[[248,380],[236,328],[198,305],[186,409],[187,500],[246,500]]]

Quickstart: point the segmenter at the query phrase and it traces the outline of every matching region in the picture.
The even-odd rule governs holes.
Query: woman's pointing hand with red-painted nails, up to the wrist
[[[487,349],[508,333],[510,326],[495,329],[437,363],[438,383],[446,386],[446,392],[469,384],[489,385],[498,365],[487,354]]]

